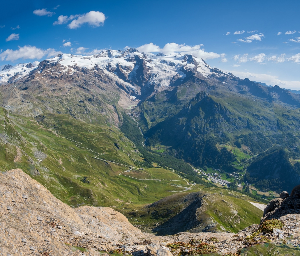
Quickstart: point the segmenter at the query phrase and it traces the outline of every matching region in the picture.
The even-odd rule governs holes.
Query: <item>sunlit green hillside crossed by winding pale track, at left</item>
[[[0,170],[21,168],[71,206],[152,203],[185,190],[178,186],[188,187],[172,169],[134,168],[119,175],[143,159],[116,128],[86,124],[69,115],[38,116],[38,123],[8,118],[5,109],[0,111]]]

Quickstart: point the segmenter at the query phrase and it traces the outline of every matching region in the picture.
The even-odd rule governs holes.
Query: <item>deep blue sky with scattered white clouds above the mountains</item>
[[[0,66],[135,47],[192,53],[241,78],[300,90],[299,7],[300,1],[4,1]]]

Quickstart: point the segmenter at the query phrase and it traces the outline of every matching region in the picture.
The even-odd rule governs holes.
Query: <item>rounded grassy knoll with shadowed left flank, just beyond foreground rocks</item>
[[[120,210],[137,227],[159,235],[178,232],[238,232],[260,222],[262,211],[247,195],[220,188],[170,195],[151,205],[127,206]]]

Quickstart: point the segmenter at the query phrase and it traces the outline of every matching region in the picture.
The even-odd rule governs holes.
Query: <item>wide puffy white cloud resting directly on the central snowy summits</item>
[[[203,44],[198,44],[195,46],[189,46],[185,44],[177,44],[177,43],[167,43],[164,48],[160,48],[159,46],[149,43],[144,44],[137,49],[140,52],[162,52],[165,55],[181,53],[184,54],[192,54],[197,58],[203,58],[204,60],[219,58],[221,55],[215,52],[205,52],[205,49],[201,49]]]

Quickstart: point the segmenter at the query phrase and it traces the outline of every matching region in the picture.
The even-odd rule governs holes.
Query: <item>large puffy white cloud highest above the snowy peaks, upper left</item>
[[[93,27],[99,27],[103,25],[106,17],[104,13],[99,11],[90,11],[83,15],[79,15],[77,19],[74,19],[69,25],[68,28],[75,29],[80,28],[83,24],[88,23],[88,25]]]

